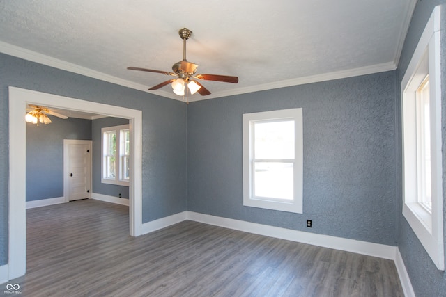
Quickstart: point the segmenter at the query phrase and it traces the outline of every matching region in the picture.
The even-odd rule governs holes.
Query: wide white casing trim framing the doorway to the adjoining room
[[[26,104],[99,113],[129,120],[132,135],[131,181],[129,184],[129,233],[141,235],[142,182],[141,138],[142,111],[121,106],[100,104],[81,99],[9,87],[9,224],[8,278],[18,278],[26,272]]]

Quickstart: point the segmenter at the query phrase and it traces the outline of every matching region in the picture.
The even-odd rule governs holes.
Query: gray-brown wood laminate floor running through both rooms
[[[386,259],[192,221],[134,238],[96,200],[26,214],[21,296],[403,296]]]

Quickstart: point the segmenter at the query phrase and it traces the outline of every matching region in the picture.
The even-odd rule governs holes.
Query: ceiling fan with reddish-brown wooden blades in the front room
[[[194,93],[199,93],[202,96],[206,96],[210,94],[210,91],[206,89],[199,81],[222,81],[224,83],[238,83],[238,77],[231,77],[227,75],[218,75],[218,74],[195,74],[197,72],[197,64],[190,63],[186,60],[186,40],[190,38],[192,31],[187,28],[180,29],[178,31],[180,38],[183,39],[183,60],[175,63],[172,66],[172,70],[174,72],[167,72],[161,70],[153,70],[139,67],[127,67],[128,70],[139,70],[146,72],[155,72],[169,75],[171,77],[178,77],[177,79],[169,79],[164,81],[149,90],[157,90],[164,86],[167,86],[171,83],[172,88],[174,89],[174,93],[176,95],[183,96],[185,95],[185,86],[187,86],[187,90],[189,90],[190,95]]]

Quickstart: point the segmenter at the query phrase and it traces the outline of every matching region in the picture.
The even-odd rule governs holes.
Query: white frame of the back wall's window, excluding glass
[[[295,154],[293,160],[293,200],[275,200],[254,197],[253,179],[253,126],[256,122],[293,120],[295,123]],[[303,125],[302,109],[283,109],[243,114],[243,205],[278,211],[303,213]]]

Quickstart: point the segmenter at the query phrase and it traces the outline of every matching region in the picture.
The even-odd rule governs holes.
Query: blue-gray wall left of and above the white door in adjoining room
[[[63,139],[91,139],[91,120],[26,123],[26,201],[63,197]]]

